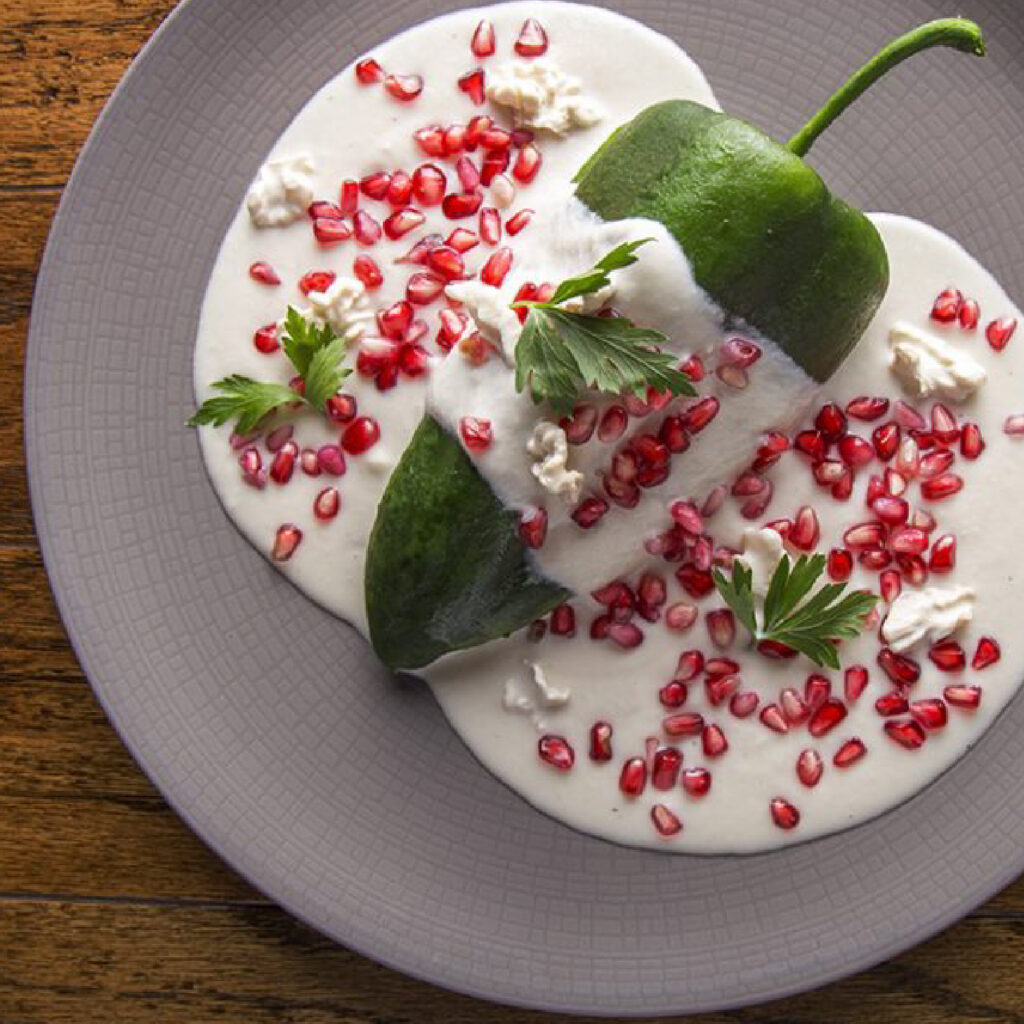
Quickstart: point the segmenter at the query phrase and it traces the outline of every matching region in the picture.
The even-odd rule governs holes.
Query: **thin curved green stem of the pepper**
[[[803,157],[817,137],[862,93],[869,89],[886,72],[907,57],[933,46],[952,46],[965,53],[985,55],[985,40],[981,29],[966,17],[943,17],[937,22],[911,29],[906,35],[894,39],[871,57],[859,71],[853,73],[838,92],[786,142],[786,148]]]

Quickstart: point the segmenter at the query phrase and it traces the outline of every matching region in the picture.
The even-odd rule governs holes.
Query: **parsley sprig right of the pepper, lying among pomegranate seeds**
[[[845,583],[825,584],[811,594],[825,568],[824,555],[801,555],[796,564],[788,555],[775,567],[765,595],[761,623],[754,600],[754,573],[738,558],[732,579],[715,569],[715,586],[756,643],[772,640],[806,654],[816,665],[839,669],[834,641],[853,639],[864,628],[863,618],[878,597],[853,591],[843,597]],[[809,596],[810,595],[810,596]]]

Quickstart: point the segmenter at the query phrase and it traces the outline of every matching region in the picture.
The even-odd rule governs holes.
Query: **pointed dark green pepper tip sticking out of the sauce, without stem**
[[[508,636],[571,596],[535,570],[516,524],[458,440],[425,416],[370,536],[367,618],[382,662],[421,668]]]

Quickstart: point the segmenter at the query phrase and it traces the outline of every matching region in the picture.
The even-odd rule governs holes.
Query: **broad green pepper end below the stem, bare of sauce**
[[[689,100],[649,106],[577,176],[603,220],[672,232],[698,285],[815,380],[856,345],[889,285],[874,225],[800,157],[737,118]]]

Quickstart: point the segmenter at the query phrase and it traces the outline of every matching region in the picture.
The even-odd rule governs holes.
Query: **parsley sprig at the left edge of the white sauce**
[[[212,423],[219,427],[236,420],[234,429],[240,434],[248,434],[271,413],[295,402],[323,413],[328,398],[337,393],[351,373],[342,367],[347,348],[344,339],[339,338],[329,324],[313,324],[289,306],[281,347],[295,372],[305,381],[304,394],[300,395],[286,384],[231,374],[213,383],[221,393],[204,401],[188,426]]]

